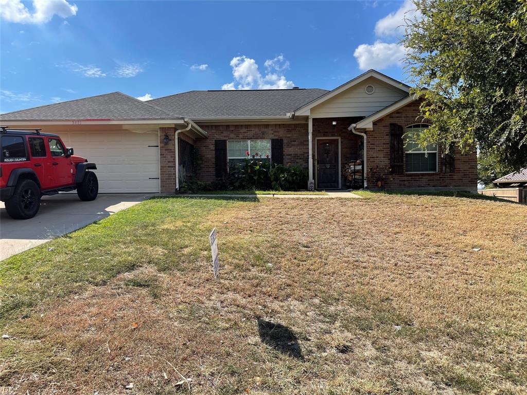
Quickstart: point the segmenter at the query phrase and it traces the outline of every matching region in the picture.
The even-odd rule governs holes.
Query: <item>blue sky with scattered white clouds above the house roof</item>
[[[2,3],[2,112],[113,91],[331,89],[368,68],[405,80],[409,0]]]

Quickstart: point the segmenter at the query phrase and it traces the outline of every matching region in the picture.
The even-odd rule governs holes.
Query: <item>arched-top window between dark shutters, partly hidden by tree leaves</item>
[[[436,173],[437,144],[428,144],[423,151],[416,143],[419,134],[428,126],[424,123],[406,126],[405,170],[406,173]]]

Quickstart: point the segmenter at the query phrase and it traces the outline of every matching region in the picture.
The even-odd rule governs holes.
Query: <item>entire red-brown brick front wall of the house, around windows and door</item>
[[[368,152],[368,185],[374,187],[378,175],[383,176],[386,188],[424,188],[424,187],[453,187],[456,189],[477,188],[477,160],[476,153],[461,154],[455,152],[455,171],[441,173],[441,152],[438,152],[437,173],[389,174],[389,124],[397,123],[403,127],[420,123],[417,120],[419,103],[413,102],[407,106],[385,116],[373,125],[373,130],[367,134]],[[337,121],[333,127],[331,121]],[[348,131],[348,126],[360,120],[357,117],[346,118],[314,118],[313,120],[313,157],[316,157],[316,139],[324,137],[340,137],[341,168],[351,160],[359,159],[359,144],[362,138]],[[308,124],[252,124],[252,125],[200,125],[209,137],[194,140],[181,133],[183,139],[197,147],[199,152],[198,179],[211,182],[214,174],[214,140],[251,140],[251,139],[283,139],[284,164],[298,165],[304,169],[308,167]],[[159,133],[159,152],[161,163],[161,192],[175,191],[174,165],[174,128],[161,127]],[[170,137],[169,144],[163,142],[164,134]],[[316,177],[317,166],[313,171]],[[340,172],[342,177],[342,169]],[[306,185],[307,186],[307,185]],[[342,186],[345,187],[344,179]]]

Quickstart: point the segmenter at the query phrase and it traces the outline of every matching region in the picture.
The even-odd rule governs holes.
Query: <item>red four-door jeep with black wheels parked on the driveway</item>
[[[33,218],[42,195],[77,190],[81,200],[95,200],[97,169],[56,134],[40,129],[0,127],[0,200],[14,219]]]

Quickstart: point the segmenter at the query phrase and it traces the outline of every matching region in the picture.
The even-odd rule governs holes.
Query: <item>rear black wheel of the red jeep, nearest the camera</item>
[[[15,220],[33,218],[40,208],[40,189],[33,180],[20,181],[13,196],[5,202],[5,209]]]

